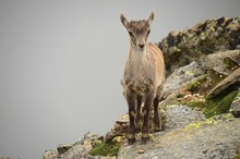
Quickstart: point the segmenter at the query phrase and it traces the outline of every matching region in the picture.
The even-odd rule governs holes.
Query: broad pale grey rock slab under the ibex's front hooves
[[[183,129],[153,134],[147,145],[139,143],[133,146],[124,143],[118,158],[230,159],[240,150],[240,119],[231,114],[217,115]]]

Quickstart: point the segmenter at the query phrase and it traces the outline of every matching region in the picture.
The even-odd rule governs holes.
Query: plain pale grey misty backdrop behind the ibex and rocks
[[[105,134],[128,111],[120,80],[129,35],[119,21],[155,10],[149,41],[209,17],[238,16],[239,0],[0,0],[0,156],[41,158],[87,131]]]

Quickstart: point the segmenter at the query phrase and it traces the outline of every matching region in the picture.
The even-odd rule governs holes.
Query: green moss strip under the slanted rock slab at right
[[[208,109],[209,111],[205,110],[205,115],[207,118],[209,118],[209,117],[213,117],[216,114],[226,113],[229,110],[231,102],[235,100],[237,95],[238,95],[237,90],[230,93],[223,100],[220,100],[220,102],[218,105],[216,105],[213,109],[211,109],[211,110]],[[208,103],[211,103],[211,102],[214,102],[214,101],[208,100]]]

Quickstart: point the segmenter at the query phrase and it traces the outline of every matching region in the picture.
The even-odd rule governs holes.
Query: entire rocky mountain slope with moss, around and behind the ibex
[[[129,146],[129,117],[123,114],[106,135],[88,132],[75,144],[46,150],[43,158],[239,159],[240,16],[171,32],[158,47],[168,75],[159,103],[164,131],[152,133],[146,145],[139,134]]]

